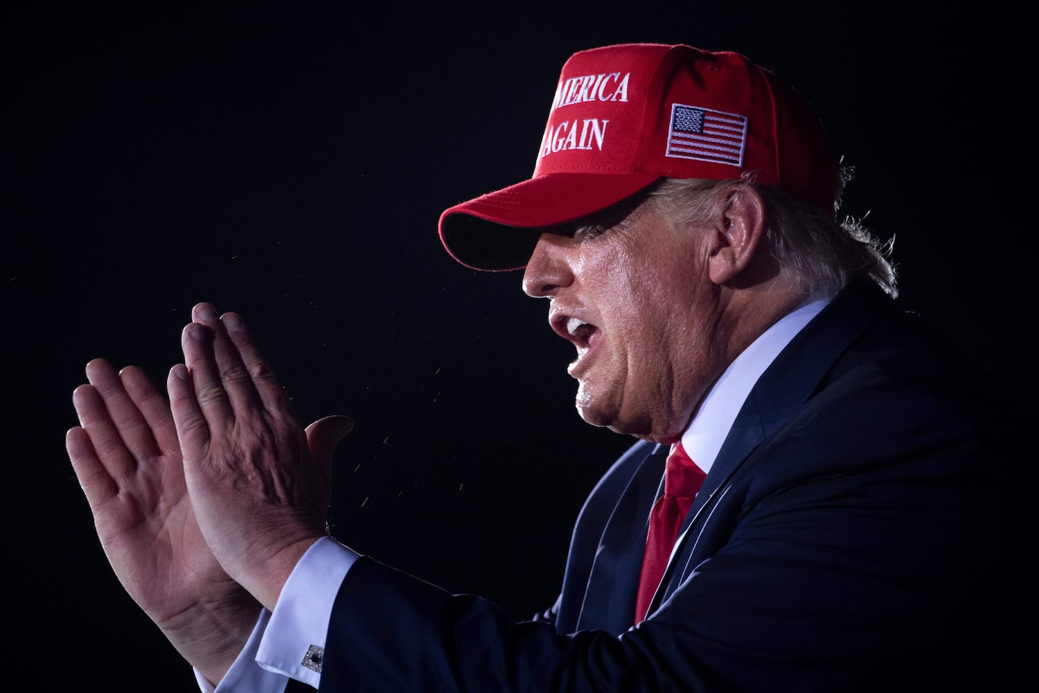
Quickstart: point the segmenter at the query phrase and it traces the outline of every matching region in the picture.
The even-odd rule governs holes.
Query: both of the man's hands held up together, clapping
[[[66,449],[124,588],[215,685],[325,534],[331,455],[352,424],[303,429],[237,316],[199,303],[192,318],[172,409],[139,369],[91,361]]]

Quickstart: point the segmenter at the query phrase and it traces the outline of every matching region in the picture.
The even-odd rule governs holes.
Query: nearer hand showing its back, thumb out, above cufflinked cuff
[[[184,328],[167,388],[191,503],[220,565],[273,609],[300,556],[326,534],[346,417],[305,430],[241,318],[209,303]]]

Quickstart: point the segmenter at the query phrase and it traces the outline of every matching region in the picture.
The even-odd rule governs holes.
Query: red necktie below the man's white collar
[[[642,558],[642,577],[635,601],[635,623],[646,616],[652,595],[664,578],[671,549],[678,538],[682,521],[696,500],[707,475],[690,459],[682,444],[671,449],[664,470],[664,495],[652,506],[649,514],[649,534],[646,553]]]

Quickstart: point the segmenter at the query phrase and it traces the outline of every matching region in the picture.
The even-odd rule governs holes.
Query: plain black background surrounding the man
[[[1012,15],[556,4],[4,5],[0,575],[16,681],[192,690],[112,575],[63,438],[83,365],[164,381],[199,300],[245,317],[304,419],[353,418],[340,539],[516,617],[551,604],[580,504],[632,441],[577,416],[547,303],[517,273],[454,263],[436,219],[530,176],[578,50],[737,50],[798,85],[856,168],[845,212],[896,236],[906,305],[993,378],[1033,387],[1012,324],[1034,315],[1034,229],[1009,212],[1024,126],[1000,85],[1017,65]]]

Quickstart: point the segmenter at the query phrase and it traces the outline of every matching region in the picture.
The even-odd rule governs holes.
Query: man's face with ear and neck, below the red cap
[[[703,223],[676,223],[650,198],[607,228],[543,233],[524,291],[578,346],[569,367],[581,417],[658,443],[681,437],[732,359],[801,300],[764,252],[765,208],[734,185]],[[590,323],[570,338],[565,318]]]

